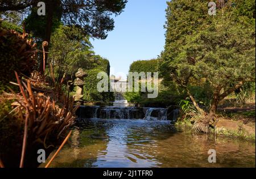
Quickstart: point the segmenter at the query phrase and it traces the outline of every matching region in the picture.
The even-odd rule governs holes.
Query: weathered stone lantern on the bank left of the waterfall
[[[76,86],[75,101],[82,101],[82,97],[84,96],[83,87],[85,85],[84,77],[86,76],[88,75],[82,69],[79,69],[76,73],[76,79],[74,81]]]

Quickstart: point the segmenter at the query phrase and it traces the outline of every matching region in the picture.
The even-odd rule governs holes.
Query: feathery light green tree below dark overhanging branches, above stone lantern
[[[89,37],[82,36],[80,29],[64,25],[57,28],[49,50],[55,78],[59,80],[65,73],[68,80],[74,80],[79,68],[88,70],[99,65],[101,57],[95,56],[92,48]]]

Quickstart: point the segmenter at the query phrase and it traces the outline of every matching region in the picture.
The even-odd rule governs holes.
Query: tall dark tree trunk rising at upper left
[[[47,25],[44,35],[44,41],[48,42],[48,46],[44,48],[45,52],[49,52],[49,43],[51,41],[51,33],[52,33],[52,24],[53,24],[53,14],[54,14],[54,7],[56,6],[55,1],[46,1],[46,12],[47,12]],[[45,57],[45,65],[47,64],[48,53],[46,53]],[[43,59],[40,59],[40,66],[39,71],[43,73],[44,63]]]

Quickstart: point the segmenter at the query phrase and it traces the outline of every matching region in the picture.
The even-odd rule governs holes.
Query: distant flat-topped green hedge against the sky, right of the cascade
[[[139,60],[131,63],[130,72],[157,72],[158,71],[158,63],[159,59],[151,59],[151,60]]]

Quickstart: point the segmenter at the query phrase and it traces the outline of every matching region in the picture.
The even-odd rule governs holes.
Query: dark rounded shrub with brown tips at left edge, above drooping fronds
[[[27,35],[6,29],[0,22],[0,92],[15,82],[14,71],[30,76],[36,67],[36,48]]]

